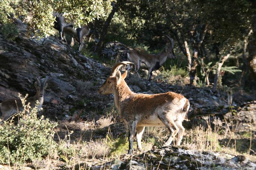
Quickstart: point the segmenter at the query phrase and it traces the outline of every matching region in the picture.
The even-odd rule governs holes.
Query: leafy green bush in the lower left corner
[[[43,116],[37,119],[38,104],[31,109],[25,119],[20,119],[19,124],[4,122],[0,126],[1,164],[40,160],[55,149],[56,144],[52,138],[53,128],[57,123],[52,123]],[[27,107],[24,102],[23,107]],[[24,112],[21,115],[24,115]]]

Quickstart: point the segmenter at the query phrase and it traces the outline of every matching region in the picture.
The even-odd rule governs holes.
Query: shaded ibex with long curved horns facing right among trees
[[[139,77],[140,77],[138,73],[139,69],[148,69],[148,81],[150,81],[152,76],[152,71],[158,70],[161,67],[161,65],[164,64],[167,57],[170,59],[176,58],[173,52],[173,46],[174,46],[173,39],[167,35],[164,35],[164,36],[166,36],[170,40],[170,43],[172,45],[166,46],[165,50],[160,54],[157,54],[157,55],[147,54],[138,50],[130,50],[127,53],[127,60],[129,62],[134,63],[134,66],[135,66],[134,70]],[[128,71],[127,78],[129,77],[129,70],[131,70],[131,68],[132,67],[130,65],[127,66],[127,71]]]

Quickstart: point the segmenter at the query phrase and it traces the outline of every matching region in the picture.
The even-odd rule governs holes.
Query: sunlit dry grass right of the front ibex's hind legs
[[[224,119],[224,122],[216,118],[212,122],[209,120],[210,116],[206,119],[208,128],[200,125],[195,129],[191,129],[188,132],[189,137],[183,140],[183,145],[200,151],[224,151],[231,154],[239,153],[250,156],[252,147],[251,132],[246,133],[249,143],[237,142],[238,138],[241,138],[240,132],[236,129],[239,123],[237,122],[235,125],[232,117],[228,121]],[[246,148],[246,145],[248,145],[248,148]]]

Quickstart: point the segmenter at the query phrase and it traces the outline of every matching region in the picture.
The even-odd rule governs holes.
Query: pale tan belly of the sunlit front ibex
[[[145,116],[140,120],[137,126],[164,126],[164,123],[158,118],[156,114]]]

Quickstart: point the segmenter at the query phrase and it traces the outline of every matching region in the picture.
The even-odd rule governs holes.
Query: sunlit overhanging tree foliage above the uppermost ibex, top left
[[[53,12],[62,13],[68,22],[81,26],[111,10],[110,0],[3,0],[0,2],[0,22],[12,23],[12,17],[28,24],[28,34],[45,37],[54,33]]]

